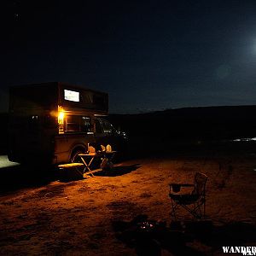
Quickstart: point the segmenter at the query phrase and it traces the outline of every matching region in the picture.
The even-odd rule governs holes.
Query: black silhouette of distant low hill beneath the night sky
[[[153,113],[111,114],[109,119],[131,136],[166,139],[256,137],[256,106],[177,108]]]

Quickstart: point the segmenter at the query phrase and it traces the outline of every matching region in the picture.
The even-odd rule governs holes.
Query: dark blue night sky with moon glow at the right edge
[[[256,1],[1,1],[12,84],[109,94],[111,113],[256,103]]]

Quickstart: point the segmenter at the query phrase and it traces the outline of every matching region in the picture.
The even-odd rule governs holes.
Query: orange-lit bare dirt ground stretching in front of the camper
[[[255,155],[167,155],[126,160],[83,180],[10,189],[0,195],[0,254],[221,255],[222,246],[255,246],[255,170]],[[193,183],[195,172],[208,176],[207,221],[180,210],[183,221],[172,224],[182,227],[172,230],[168,184]],[[142,214],[158,231],[138,229]]]

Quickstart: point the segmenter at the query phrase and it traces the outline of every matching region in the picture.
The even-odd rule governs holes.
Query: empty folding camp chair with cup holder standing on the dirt
[[[206,183],[207,175],[201,172],[195,173],[194,184],[171,183],[169,196],[172,201],[171,216],[176,219],[177,208],[183,207],[195,218],[205,218],[206,213]],[[189,194],[181,194],[184,187],[194,188]]]

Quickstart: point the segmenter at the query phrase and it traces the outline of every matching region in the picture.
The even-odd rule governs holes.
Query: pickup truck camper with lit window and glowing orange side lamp
[[[9,160],[58,165],[73,162],[90,145],[121,150],[124,134],[108,115],[108,94],[60,82],[9,90]]]

